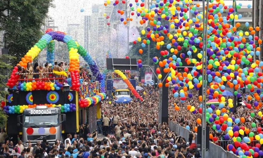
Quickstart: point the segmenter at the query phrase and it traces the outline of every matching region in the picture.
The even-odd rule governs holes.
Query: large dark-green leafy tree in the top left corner
[[[9,55],[16,56],[17,64],[26,52],[41,38],[41,26],[53,0],[0,1],[0,31]],[[6,14],[6,11],[9,12]],[[1,44],[0,43],[0,44]],[[2,43],[3,44],[3,43]]]

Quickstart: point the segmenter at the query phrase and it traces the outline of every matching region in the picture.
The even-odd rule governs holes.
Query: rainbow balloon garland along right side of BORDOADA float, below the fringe
[[[85,99],[79,100],[79,105],[80,107],[89,107],[89,106],[94,106],[97,103],[99,103],[102,100],[106,99],[106,94],[105,93],[98,93],[96,96],[93,97],[87,97]]]

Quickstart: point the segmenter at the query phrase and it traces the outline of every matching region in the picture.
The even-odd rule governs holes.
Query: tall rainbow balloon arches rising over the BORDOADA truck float
[[[24,55],[23,58],[21,58],[21,61],[19,62],[20,66],[26,68],[27,63],[31,63],[35,57],[46,47],[48,48],[47,61],[53,62],[52,58],[54,58],[54,56],[51,56],[54,55],[55,45],[53,44],[53,40],[66,43],[69,49],[69,72],[71,75],[72,90],[78,91],[80,88],[79,55],[82,56],[83,59],[89,64],[93,76],[96,77],[96,81],[102,81],[102,73],[99,72],[96,62],[94,62],[87,50],[78,44],[74,39],[72,39],[71,36],[66,35],[64,32],[55,32],[52,29],[47,29],[46,34],[43,35],[33,47],[31,47],[31,49],[26,53],[26,55]],[[7,82],[7,86],[9,86],[9,88],[13,88],[13,86],[15,86],[18,82],[19,75],[17,74],[17,71],[18,68],[15,66]],[[105,92],[105,90],[102,89],[102,92]]]

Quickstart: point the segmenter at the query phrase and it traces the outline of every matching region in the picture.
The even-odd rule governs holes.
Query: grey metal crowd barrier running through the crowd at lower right
[[[178,135],[184,137],[186,142],[188,142],[189,130],[187,130],[186,128],[172,121],[169,121],[169,127],[170,127],[170,130],[175,131]],[[197,136],[195,137],[195,142],[197,142]],[[220,143],[220,145],[222,143],[222,146],[223,147],[225,146],[225,149],[226,149],[226,145],[228,142],[229,141],[218,141],[217,143]],[[206,158],[211,158],[211,157],[213,158],[238,158],[238,156],[236,156],[235,154],[229,151],[224,150],[221,146],[218,146],[214,144],[213,142],[209,142],[209,151],[206,152]]]

